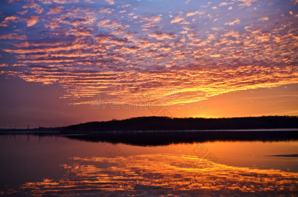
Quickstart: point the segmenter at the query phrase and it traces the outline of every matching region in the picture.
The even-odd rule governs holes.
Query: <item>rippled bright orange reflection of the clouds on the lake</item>
[[[61,179],[26,182],[30,196],[297,195],[298,173],[223,165],[196,156],[71,157]],[[143,185],[135,187],[136,185]],[[162,188],[149,188],[159,186]]]

